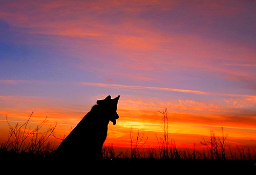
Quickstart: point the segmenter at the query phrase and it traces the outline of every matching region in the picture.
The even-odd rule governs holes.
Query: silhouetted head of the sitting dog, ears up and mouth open
[[[101,99],[97,101],[97,105],[102,110],[102,113],[106,115],[108,121],[112,121],[113,124],[116,124],[116,119],[119,118],[116,110],[117,110],[117,103],[120,95],[116,98],[111,99],[111,96],[107,96],[105,99]]]

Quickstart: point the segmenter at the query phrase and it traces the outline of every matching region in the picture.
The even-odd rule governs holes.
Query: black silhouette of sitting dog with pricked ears
[[[116,124],[119,118],[116,110],[120,95],[111,99],[98,100],[90,112],[82,118],[71,133],[60,143],[54,155],[59,157],[80,157],[98,160],[102,158],[102,145],[110,121]]]

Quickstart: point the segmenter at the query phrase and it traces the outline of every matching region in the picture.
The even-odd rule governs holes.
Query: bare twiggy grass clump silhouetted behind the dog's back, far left
[[[53,134],[57,123],[42,131],[42,127],[47,122],[47,117],[31,128],[30,120],[33,112],[30,114],[28,119],[20,124],[16,122],[14,126],[6,121],[9,126],[9,137],[5,143],[1,144],[1,151],[12,154],[29,154],[29,155],[49,155],[53,151],[53,144],[48,141],[49,137]]]

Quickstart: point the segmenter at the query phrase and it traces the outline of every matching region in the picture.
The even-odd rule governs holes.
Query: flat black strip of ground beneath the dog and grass
[[[253,160],[166,160],[166,159],[113,159],[81,160],[51,156],[1,156],[2,172],[27,174],[256,174]],[[89,173],[90,171],[90,173]]]

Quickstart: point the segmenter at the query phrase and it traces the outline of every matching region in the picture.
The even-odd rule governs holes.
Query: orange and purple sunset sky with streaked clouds
[[[105,144],[177,147],[214,131],[256,149],[255,1],[0,1],[0,141],[7,119],[67,135],[98,99],[120,95]],[[95,124],[97,128],[97,124]]]

